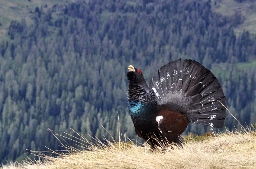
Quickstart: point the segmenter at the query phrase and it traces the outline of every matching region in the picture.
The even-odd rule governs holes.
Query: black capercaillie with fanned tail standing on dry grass
[[[188,123],[224,126],[227,99],[220,83],[195,60],[169,62],[158,69],[159,80],[153,77],[148,85],[140,69],[128,69],[130,115],[137,135],[151,151],[166,143],[182,147]]]

